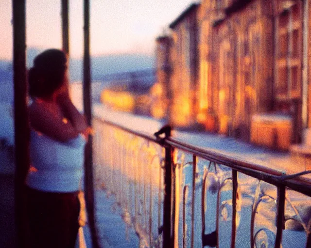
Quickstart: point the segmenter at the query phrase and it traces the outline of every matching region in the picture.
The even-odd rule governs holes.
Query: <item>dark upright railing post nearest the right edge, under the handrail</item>
[[[285,213],[285,186],[277,187],[277,216],[276,216],[276,244],[275,248],[281,247],[282,231],[284,229]]]

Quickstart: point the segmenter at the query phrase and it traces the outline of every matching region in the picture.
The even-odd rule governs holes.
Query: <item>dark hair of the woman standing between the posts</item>
[[[28,71],[29,95],[50,97],[64,82],[67,58],[63,51],[49,49],[35,57]]]

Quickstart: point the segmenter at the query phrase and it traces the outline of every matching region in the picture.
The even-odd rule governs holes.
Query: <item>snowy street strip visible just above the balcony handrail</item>
[[[82,110],[82,105],[80,109]],[[147,135],[153,135],[164,124],[152,118],[116,112],[102,104],[95,104],[93,106],[93,116]],[[289,152],[272,151],[223,135],[206,132],[173,131],[172,138],[208,151],[286,174],[306,170],[306,161],[297,155]],[[303,175],[302,177],[311,180],[311,174]]]

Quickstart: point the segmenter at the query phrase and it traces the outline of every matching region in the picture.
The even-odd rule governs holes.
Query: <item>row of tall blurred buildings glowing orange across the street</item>
[[[270,123],[272,133],[265,134],[270,141],[263,144],[275,142],[283,131],[285,147],[301,142],[311,126],[310,3],[202,0],[190,5],[170,25],[170,115],[178,115],[170,118],[172,124],[197,122],[208,131],[261,143]],[[264,128],[256,125],[260,120]]]

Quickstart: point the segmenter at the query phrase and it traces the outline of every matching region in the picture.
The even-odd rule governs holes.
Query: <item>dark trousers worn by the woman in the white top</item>
[[[27,189],[32,248],[74,248],[79,229],[78,192],[54,193]]]

